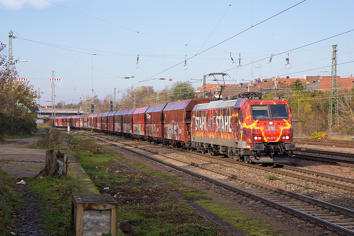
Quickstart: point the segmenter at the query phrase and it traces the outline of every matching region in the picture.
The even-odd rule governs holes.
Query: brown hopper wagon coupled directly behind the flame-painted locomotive
[[[192,110],[196,104],[208,103],[209,98],[193,98],[177,102],[169,102],[163,110],[164,138],[168,143],[184,145],[190,140],[190,121]]]

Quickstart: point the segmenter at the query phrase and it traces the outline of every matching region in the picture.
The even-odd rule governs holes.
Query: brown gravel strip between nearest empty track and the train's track
[[[215,160],[212,157],[200,156],[198,154],[186,152],[181,153],[181,151],[169,149],[164,146],[154,146],[149,143],[145,144],[136,142],[134,140],[126,140],[121,138],[116,139],[124,143],[129,143],[132,145],[147,148],[149,150],[158,151],[167,155],[175,156],[201,165],[239,175],[241,177],[256,180],[261,183],[296,192],[298,194],[313,197],[321,201],[330,202],[341,207],[354,209],[354,193],[347,190],[332,188],[330,186],[325,186],[323,184],[317,184],[313,182],[305,182],[301,179],[287,177],[285,175],[275,173],[272,173],[272,175],[276,176],[278,179],[270,181],[267,179],[267,176],[271,174],[270,172],[257,169],[256,167],[244,166],[242,165],[242,162],[240,162],[240,164],[234,164],[227,161]],[[291,184],[286,184],[286,182],[290,182]]]

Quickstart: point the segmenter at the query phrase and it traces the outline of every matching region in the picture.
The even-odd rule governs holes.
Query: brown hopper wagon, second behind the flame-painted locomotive
[[[164,116],[162,110],[167,103],[150,106],[146,112],[146,135],[151,140],[164,138]]]

